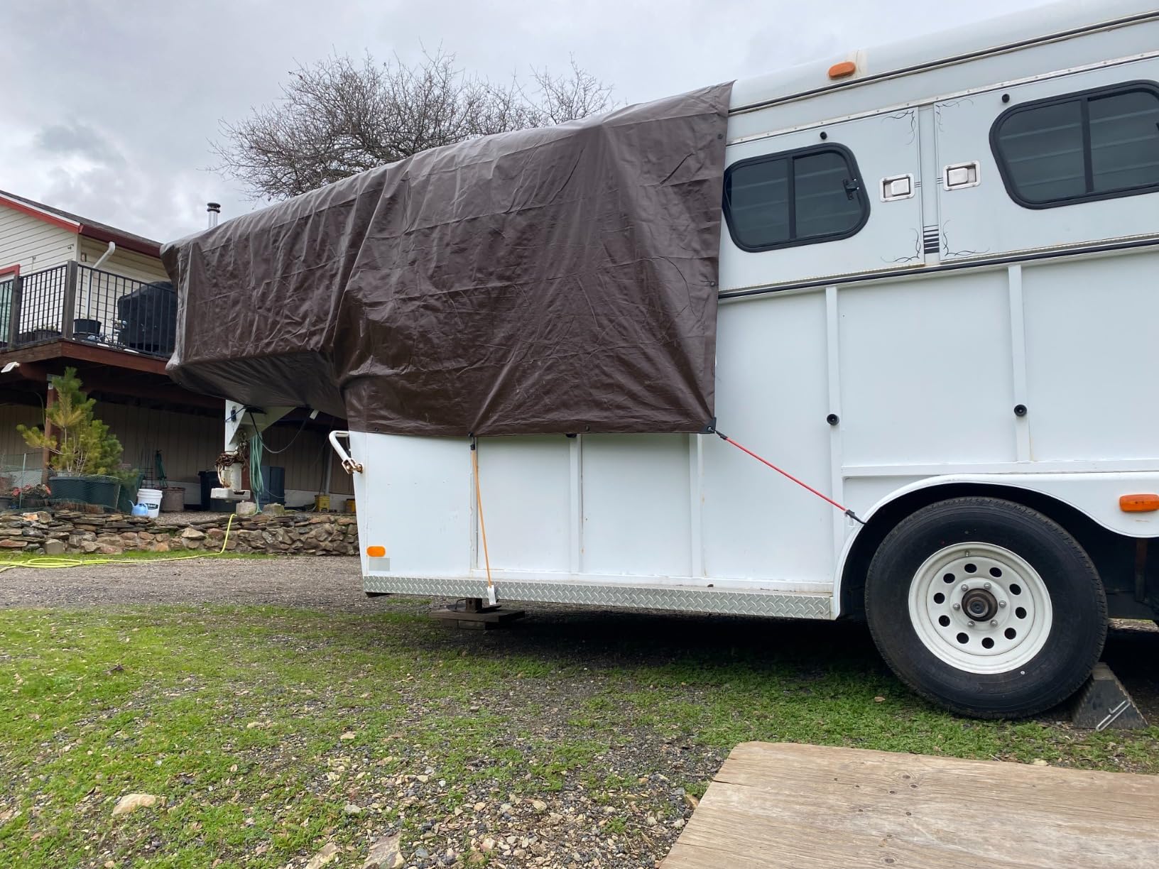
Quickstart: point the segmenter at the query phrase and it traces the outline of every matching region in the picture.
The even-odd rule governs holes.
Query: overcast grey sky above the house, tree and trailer
[[[223,219],[260,206],[207,170],[207,140],[331,50],[442,44],[495,79],[571,53],[639,102],[1040,2],[7,0],[0,189],[165,241],[201,229],[206,200]]]

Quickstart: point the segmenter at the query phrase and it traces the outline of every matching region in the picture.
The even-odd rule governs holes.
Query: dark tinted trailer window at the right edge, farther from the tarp
[[[1019,105],[999,116],[990,141],[1007,192],[1028,209],[1159,190],[1159,86]]]

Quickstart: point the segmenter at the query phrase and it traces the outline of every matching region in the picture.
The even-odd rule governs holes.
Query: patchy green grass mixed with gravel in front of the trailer
[[[350,850],[331,867],[360,867],[381,831],[435,841],[436,821],[466,849],[457,812],[581,797],[611,806],[603,834],[662,856],[680,789],[701,794],[749,739],[1159,772],[1157,728],[934,709],[859,628],[714,625],[581,615],[483,635],[393,598],[373,614],[0,611],[0,864],[272,868],[333,841]],[[165,802],[111,817],[129,793]]]

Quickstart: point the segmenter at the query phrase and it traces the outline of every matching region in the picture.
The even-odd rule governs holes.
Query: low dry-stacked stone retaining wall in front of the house
[[[124,552],[217,550],[225,540],[228,513],[206,513],[189,523],[121,513],[95,516],[70,510],[54,513],[0,513],[0,552],[48,555]],[[228,552],[283,555],[357,555],[358,525],[352,516],[280,513],[234,517]]]

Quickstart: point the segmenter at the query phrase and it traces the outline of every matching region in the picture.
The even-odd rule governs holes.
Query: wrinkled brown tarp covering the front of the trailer
[[[166,244],[169,373],[358,431],[702,429],[730,92],[433,148]]]

